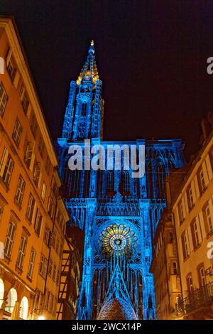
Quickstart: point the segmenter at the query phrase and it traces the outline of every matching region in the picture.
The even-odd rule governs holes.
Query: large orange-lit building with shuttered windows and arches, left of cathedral
[[[69,217],[58,159],[11,18],[0,18],[0,57],[0,318],[54,319]]]

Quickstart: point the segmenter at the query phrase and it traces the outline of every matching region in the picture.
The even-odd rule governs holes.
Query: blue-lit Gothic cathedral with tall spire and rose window
[[[113,83],[112,83],[113,84]],[[183,166],[180,139],[102,141],[104,100],[91,42],[82,72],[70,82],[62,138],[57,141],[63,196],[72,226],[84,231],[84,262],[78,319],[154,319],[155,293],[149,273],[152,239],[165,208],[165,176]],[[131,169],[75,170],[69,147],[92,144],[144,145],[146,173]]]

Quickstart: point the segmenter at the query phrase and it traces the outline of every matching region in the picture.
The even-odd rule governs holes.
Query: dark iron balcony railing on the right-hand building
[[[175,303],[175,312],[177,316],[184,316],[190,311],[206,306],[211,302],[213,303],[213,282],[192,291],[183,299],[178,297],[178,302]]]

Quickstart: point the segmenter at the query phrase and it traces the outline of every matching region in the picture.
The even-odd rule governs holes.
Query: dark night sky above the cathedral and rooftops
[[[16,19],[53,139],[94,39],[104,139],[179,137],[187,156],[197,151],[213,109],[212,0],[0,0],[0,10]]]

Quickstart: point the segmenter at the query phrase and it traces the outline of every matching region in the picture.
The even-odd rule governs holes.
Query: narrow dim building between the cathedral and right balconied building
[[[181,296],[178,250],[171,212],[165,210],[153,239],[153,261],[156,317],[159,320],[177,318],[175,307]]]

